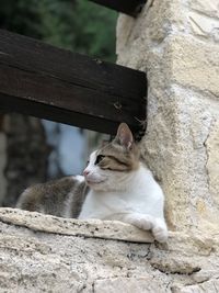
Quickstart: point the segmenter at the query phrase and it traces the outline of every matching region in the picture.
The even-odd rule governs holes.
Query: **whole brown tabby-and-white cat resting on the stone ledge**
[[[81,177],[68,177],[31,187],[18,207],[79,219],[116,219],[168,240],[164,194],[151,171],[140,161],[140,150],[128,125],[118,126],[113,142],[93,151]]]

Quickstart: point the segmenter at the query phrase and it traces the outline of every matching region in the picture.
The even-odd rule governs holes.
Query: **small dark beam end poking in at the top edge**
[[[147,0],[90,0],[125,14],[137,16]]]

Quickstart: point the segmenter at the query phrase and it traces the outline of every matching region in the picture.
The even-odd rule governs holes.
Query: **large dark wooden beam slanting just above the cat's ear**
[[[94,60],[0,30],[0,110],[102,133],[146,120],[141,71]]]

